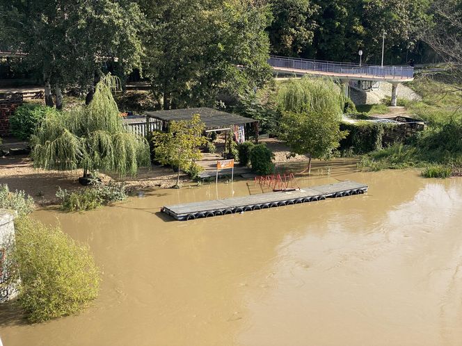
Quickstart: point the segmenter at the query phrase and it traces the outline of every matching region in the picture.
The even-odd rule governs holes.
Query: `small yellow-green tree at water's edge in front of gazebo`
[[[189,170],[194,161],[202,157],[198,147],[207,143],[202,135],[204,130],[205,125],[196,114],[189,121],[170,122],[168,133],[156,134],[157,160],[178,168],[176,187],[180,186],[180,169]]]

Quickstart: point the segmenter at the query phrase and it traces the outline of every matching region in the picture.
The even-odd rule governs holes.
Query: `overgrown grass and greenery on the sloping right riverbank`
[[[427,129],[404,143],[366,154],[360,166],[372,170],[422,167],[423,175],[462,175],[462,91],[458,85],[438,79],[417,78],[409,86],[422,101],[401,101],[411,117]]]

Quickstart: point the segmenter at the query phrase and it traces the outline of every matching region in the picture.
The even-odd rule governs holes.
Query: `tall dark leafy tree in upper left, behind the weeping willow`
[[[0,6],[12,49],[42,74],[45,101],[62,106],[62,90],[94,91],[103,72],[139,67],[143,14],[129,0],[10,0]],[[0,37],[1,38],[1,37]]]

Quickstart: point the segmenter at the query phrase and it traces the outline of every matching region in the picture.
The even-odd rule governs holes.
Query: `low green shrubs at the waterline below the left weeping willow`
[[[89,211],[114,201],[123,201],[127,198],[127,193],[122,184],[95,183],[93,186],[76,192],[58,188],[56,197],[61,199],[61,210],[63,211]]]

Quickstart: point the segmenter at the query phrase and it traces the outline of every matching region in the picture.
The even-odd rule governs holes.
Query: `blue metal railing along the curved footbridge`
[[[409,66],[360,66],[353,63],[333,63],[330,61],[286,58],[283,56],[270,56],[268,63],[272,67],[280,67],[284,69],[301,69],[306,71],[357,75],[363,77],[371,76],[386,79],[412,79],[414,77],[414,67]]]

